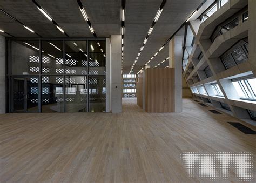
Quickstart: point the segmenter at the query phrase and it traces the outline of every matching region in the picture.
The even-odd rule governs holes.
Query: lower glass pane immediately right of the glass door
[[[64,112],[63,76],[42,76],[42,112]]]

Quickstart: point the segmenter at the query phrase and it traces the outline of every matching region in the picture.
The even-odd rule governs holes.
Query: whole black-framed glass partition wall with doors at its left
[[[8,39],[9,112],[105,112],[105,39]]]

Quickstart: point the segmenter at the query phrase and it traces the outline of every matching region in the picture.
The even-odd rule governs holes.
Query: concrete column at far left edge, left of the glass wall
[[[5,38],[0,35],[0,114],[5,113]]]

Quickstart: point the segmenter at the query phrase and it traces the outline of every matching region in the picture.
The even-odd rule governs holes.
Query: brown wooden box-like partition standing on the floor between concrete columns
[[[146,112],[174,112],[174,69],[146,69],[144,72],[137,83],[138,105],[143,107],[144,98]]]

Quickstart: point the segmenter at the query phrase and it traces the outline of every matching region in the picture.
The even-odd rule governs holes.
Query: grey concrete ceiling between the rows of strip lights
[[[138,62],[134,66],[134,73],[137,73],[145,65],[203,1],[167,0]],[[70,37],[92,37],[76,0],[37,0],[37,2]],[[82,3],[98,37],[120,34],[120,0],[82,0]],[[126,0],[123,73],[129,73],[160,4],[161,0]],[[39,12],[32,1],[0,0],[0,8],[42,37],[65,37],[52,22]],[[15,37],[38,37],[2,12],[0,12],[0,29]],[[183,31],[181,30],[179,34],[182,35]],[[168,46],[165,46],[151,61],[150,66],[154,67],[168,56]],[[167,62],[159,67],[166,65]]]

